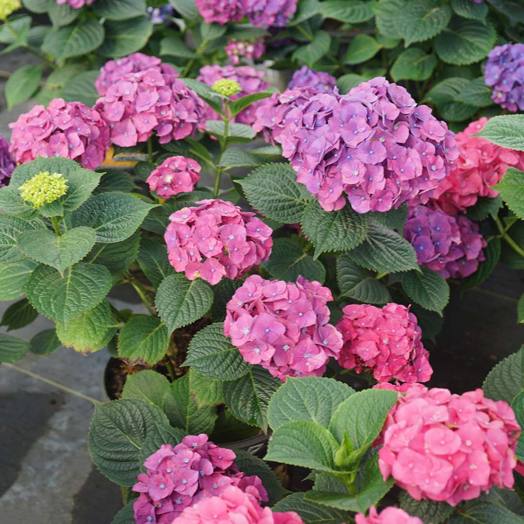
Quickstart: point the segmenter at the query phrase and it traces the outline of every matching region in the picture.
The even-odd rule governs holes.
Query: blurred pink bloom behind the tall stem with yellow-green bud
[[[252,93],[258,93],[264,91],[269,87],[269,84],[262,80],[264,76],[263,71],[257,71],[250,65],[204,65],[200,68],[200,75],[196,78],[199,82],[203,82],[206,85],[212,86],[217,80],[227,78],[228,80],[236,80],[242,91],[236,95],[231,96],[232,100],[236,100],[242,96],[250,95]],[[239,122],[241,124],[253,124],[255,120],[256,108],[260,106],[262,100],[251,104],[246,107],[238,115],[236,115],[232,122]],[[204,116],[204,122],[206,120],[216,120],[219,116],[209,105],[206,105],[206,112]]]

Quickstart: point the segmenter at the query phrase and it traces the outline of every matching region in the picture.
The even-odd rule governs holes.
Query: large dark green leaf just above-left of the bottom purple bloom
[[[122,399],[95,404],[88,447],[95,466],[110,481],[133,486],[140,473],[140,449],[166,415],[145,400]]]

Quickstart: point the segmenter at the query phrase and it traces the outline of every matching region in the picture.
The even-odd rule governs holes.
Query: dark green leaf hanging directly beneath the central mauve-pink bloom
[[[263,367],[249,366],[243,377],[224,382],[225,404],[237,419],[267,432],[268,403],[281,384]]]

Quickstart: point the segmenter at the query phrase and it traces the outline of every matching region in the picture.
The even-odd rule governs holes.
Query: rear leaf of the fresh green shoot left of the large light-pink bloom
[[[354,393],[332,378],[288,377],[269,402],[269,425],[276,430],[287,422],[309,420],[327,428],[335,409]]]

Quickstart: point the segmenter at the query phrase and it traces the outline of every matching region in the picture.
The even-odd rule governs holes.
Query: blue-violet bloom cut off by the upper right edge
[[[484,80],[493,88],[497,104],[512,113],[524,111],[524,43],[506,43],[489,51]]]

